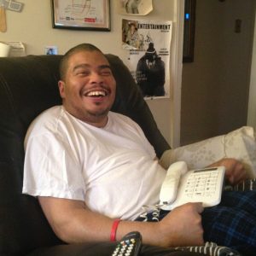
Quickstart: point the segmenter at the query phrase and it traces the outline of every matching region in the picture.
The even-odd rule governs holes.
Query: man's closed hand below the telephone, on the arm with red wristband
[[[158,241],[163,247],[203,245],[201,203],[177,207],[159,222]]]

